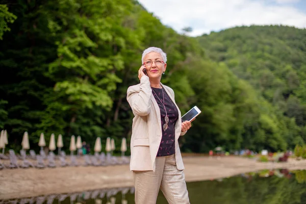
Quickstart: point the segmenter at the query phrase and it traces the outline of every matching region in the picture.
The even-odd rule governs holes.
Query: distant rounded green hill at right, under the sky
[[[288,147],[306,141],[306,30],[254,25],[197,40],[209,59],[224,64],[267,101],[277,120],[287,126],[287,131],[275,129]]]

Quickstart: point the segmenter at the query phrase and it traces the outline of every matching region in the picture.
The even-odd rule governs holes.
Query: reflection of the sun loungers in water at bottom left
[[[56,200],[58,203],[66,200],[67,198],[70,200],[70,203],[74,203],[79,199],[88,200],[88,199],[101,199],[105,196],[109,199],[112,196],[121,193],[122,195],[127,194],[130,191],[131,194],[135,193],[135,188],[126,187],[126,188],[113,188],[113,189],[99,189],[93,191],[79,192],[79,193],[71,193],[71,194],[58,194],[58,195],[47,195],[47,196],[37,196],[31,198],[19,198],[19,199],[10,199],[10,200],[0,200],[0,204],[12,203],[12,204],[27,204],[27,203],[54,203]],[[124,196],[122,196],[124,197]],[[67,201],[65,201],[67,203]]]

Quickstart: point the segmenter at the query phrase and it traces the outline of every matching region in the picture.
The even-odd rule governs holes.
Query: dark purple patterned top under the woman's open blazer
[[[176,120],[179,118],[179,112],[177,111],[174,103],[166,93],[164,89],[159,88],[152,88],[152,94],[154,95],[156,102],[160,108],[161,111],[161,121],[162,121],[162,140],[160,147],[157,152],[157,157],[163,157],[163,156],[169,156],[173,155],[175,153],[174,149],[174,138],[175,138],[175,123]],[[165,116],[166,111],[164,108],[164,105],[161,103],[161,101],[164,103],[163,100],[163,92],[164,92],[164,100],[165,100],[165,108],[167,110],[167,115],[169,117],[168,122],[168,128],[166,131],[163,129],[163,125],[166,123]],[[156,95],[156,94],[158,95]]]

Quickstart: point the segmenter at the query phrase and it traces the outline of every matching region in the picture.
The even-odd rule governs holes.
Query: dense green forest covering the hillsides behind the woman
[[[134,0],[0,0],[0,129],[6,149],[44,133],[129,143],[126,90],[142,51],[167,53],[162,83],[182,114],[202,113],[180,138],[184,152],[284,151],[306,142],[306,30],[236,27],[189,37]],[[105,145],[103,145],[103,148]]]

